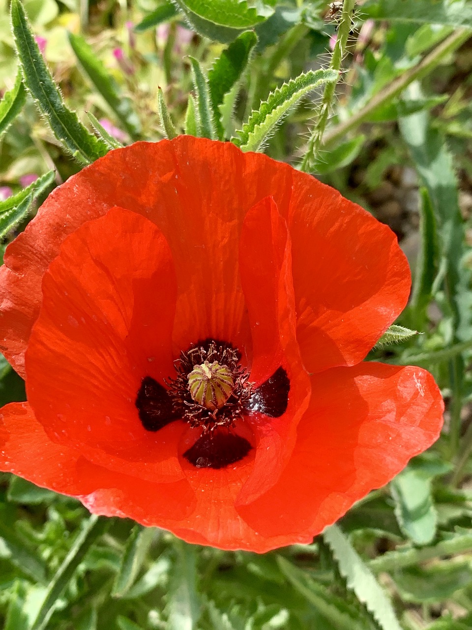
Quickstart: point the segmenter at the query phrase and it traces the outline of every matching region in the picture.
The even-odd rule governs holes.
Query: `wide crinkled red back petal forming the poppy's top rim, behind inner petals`
[[[159,226],[175,264],[175,348],[249,334],[237,277],[245,214],[272,196],[293,243],[298,340],[311,372],[365,357],[405,306],[407,263],[395,235],[309,175],[230,143],[179,136],[111,151],[57,188],[8,247],[0,272],[0,350],[24,375],[41,282],[68,234],[116,205]],[[223,264],[222,264],[223,263]],[[228,285],[233,301],[225,304]],[[196,297],[199,309],[194,311]]]

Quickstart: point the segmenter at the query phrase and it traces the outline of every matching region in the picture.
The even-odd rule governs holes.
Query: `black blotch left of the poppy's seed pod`
[[[143,378],[135,404],[147,431],[159,431],[179,417],[172,409],[172,398],[166,387],[150,376]]]

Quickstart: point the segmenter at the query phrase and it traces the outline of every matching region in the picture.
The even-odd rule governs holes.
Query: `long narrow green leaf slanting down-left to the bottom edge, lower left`
[[[55,603],[64,592],[87,551],[94,542],[104,534],[106,529],[108,529],[110,522],[111,519],[109,518],[99,518],[95,515],[89,518],[84,529],[79,536],[77,536],[69,553],[65,556],[64,562],[60,565],[59,570],[57,570],[55,576],[50,581],[45,598],[38,610],[31,630],[45,630],[47,628]]]

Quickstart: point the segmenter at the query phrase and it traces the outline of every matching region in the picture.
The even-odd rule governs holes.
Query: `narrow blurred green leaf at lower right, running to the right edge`
[[[461,554],[472,551],[472,534],[455,536],[447,541],[438,542],[433,547],[422,547],[421,549],[398,549],[389,551],[383,556],[378,556],[369,562],[369,568],[374,573],[381,571],[395,571],[407,566],[413,566],[419,562],[425,562],[441,556]]]

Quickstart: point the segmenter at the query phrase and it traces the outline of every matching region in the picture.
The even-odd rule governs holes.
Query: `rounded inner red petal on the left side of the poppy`
[[[114,208],[64,241],[26,353],[28,400],[51,439],[97,463],[162,462],[183,476],[183,423],[149,432],[135,405],[143,378],[162,382],[173,370],[175,300],[166,239],[144,217]]]

